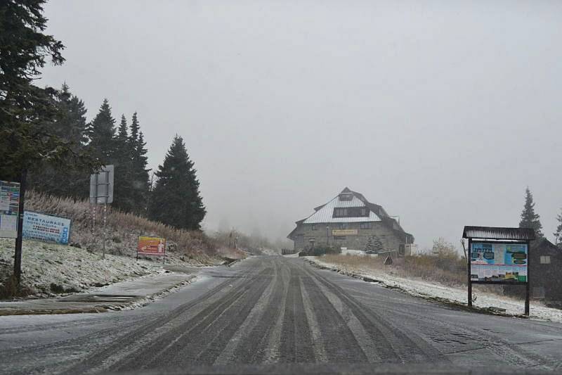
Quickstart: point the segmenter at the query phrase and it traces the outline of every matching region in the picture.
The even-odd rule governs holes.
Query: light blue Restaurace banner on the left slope
[[[67,245],[70,239],[70,219],[25,211],[22,234],[24,239]]]

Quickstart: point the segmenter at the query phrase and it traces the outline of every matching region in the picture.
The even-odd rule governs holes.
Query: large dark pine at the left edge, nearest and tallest
[[[0,176],[18,180],[30,167],[65,163],[70,155],[95,167],[87,155],[74,155],[53,134],[55,89],[34,86],[47,60],[65,59],[63,44],[44,34],[44,0],[0,1]]]

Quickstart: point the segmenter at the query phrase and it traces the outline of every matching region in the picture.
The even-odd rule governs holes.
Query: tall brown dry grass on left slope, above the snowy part
[[[93,205],[86,201],[30,191],[26,194],[25,209],[72,219],[70,242],[81,248],[101,250],[103,205],[96,206],[96,227],[92,226]],[[175,229],[144,217],[113,210],[110,205],[107,206],[106,233],[107,252],[116,255],[135,255],[137,237],[141,235],[166,238],[168,250],[188,260],[210,263],[211,258],[218,255],[214,241],[202,231]]]

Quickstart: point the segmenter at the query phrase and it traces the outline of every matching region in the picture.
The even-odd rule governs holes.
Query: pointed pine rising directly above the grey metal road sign
[[[96,117],[88,126],[89,149],[102,164],[109,164],[115,152],[115,118],[111,114],[111,107],[107,98]]]

